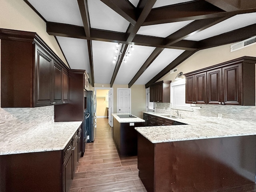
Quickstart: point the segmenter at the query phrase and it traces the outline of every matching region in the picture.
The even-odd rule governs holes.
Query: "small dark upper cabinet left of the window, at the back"
[[[150,102],[170,103],[170,83],[172,81],[160,81],[150,85]]]

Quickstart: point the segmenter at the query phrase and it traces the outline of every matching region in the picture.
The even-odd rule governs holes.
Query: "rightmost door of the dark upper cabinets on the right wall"
[[[242,64],[222,68],[222,102],[242,105]]]

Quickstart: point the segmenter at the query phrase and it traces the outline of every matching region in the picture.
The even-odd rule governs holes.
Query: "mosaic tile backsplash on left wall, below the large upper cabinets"
[[[54,121],[54,106],[36,108],[0,108],[0,147],[21,134]]]

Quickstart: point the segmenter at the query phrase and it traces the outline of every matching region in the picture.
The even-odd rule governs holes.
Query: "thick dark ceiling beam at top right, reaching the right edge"
[[[252,3],[250,8],[225,12],[224,10],[205,2],[197,0],[178,5],[154,8],[148,15],[142,26],[179,22],[186,20],[200,20],[207,18],[235,16],[236,14],[256,12],[256,7]]]

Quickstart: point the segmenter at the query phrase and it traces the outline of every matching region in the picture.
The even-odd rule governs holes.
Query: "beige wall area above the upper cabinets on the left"
[[[0,28],[36,32],[67,65],[54,36],[46,32],[46,23],[23,0],[1,0]]]

